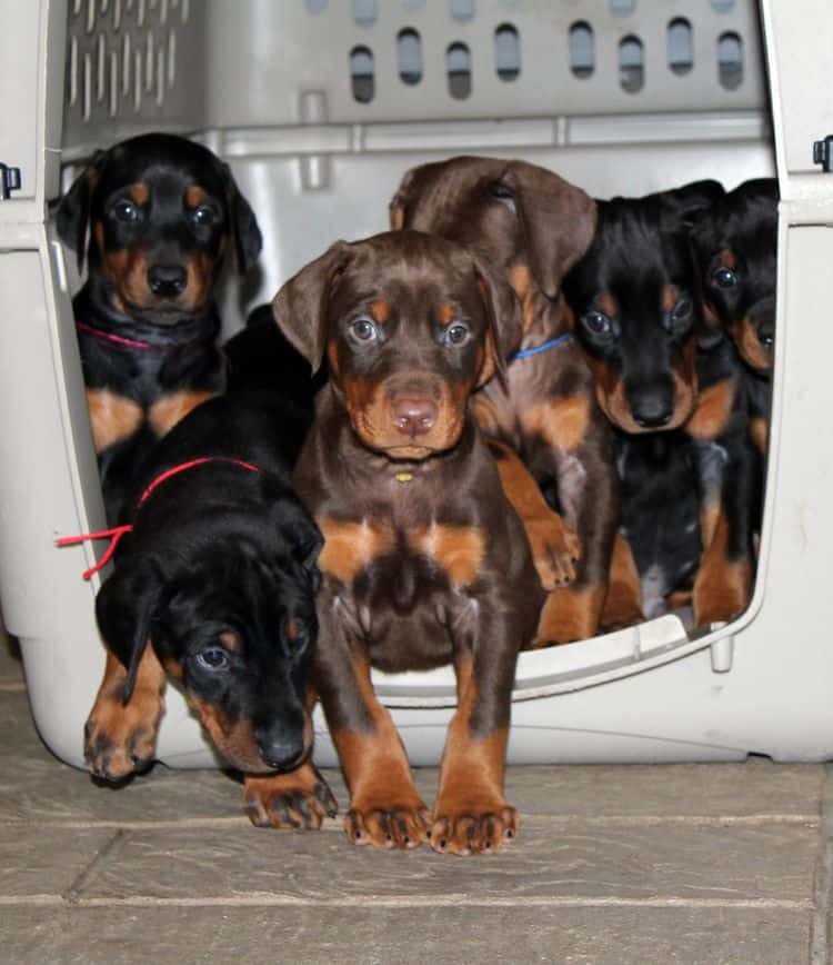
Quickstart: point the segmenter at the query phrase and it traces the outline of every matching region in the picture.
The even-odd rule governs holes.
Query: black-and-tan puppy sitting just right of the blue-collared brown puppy
[[[699,626],[749,604],[753,470],[735,354],[703,331],[690,229],[723,193],[701,181],[599,201],[588,252],[564,279],[578,342],[614,427],[623,535],[646,613],[691,586]]]

